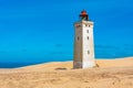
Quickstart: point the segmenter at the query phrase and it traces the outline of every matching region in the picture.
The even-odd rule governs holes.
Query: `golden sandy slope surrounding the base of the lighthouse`
[[[0,69],[0,88],[133,88],[132,57],[96,64],[88,69],[72,69],[72,62]]]

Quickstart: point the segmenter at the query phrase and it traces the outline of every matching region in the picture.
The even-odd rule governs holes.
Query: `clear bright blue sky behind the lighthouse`
[[[0,0],[0,62],[71,61],[83,9],[96,57],[133,56],[132,0]]]

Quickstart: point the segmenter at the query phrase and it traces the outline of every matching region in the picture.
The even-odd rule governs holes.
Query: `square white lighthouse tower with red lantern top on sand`
[[[86,11],[80,14],[80,21],[74,23],[74,58],[73,68],[95,66],[93,44],[93,22],[89,20]]]

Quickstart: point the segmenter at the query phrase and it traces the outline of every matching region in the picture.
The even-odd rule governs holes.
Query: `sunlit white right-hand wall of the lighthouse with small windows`
[[[83,68],[93,67],[94,61],[94,44],[93,44],[93,22],[82,21],[82,52],[83,52]]]

